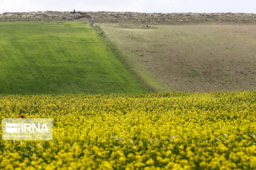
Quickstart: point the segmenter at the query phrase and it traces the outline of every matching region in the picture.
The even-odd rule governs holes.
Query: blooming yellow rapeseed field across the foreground
[[[256,169],[256,91],[0,96],[19,112],[54,140],[1,140],[0,169]]]

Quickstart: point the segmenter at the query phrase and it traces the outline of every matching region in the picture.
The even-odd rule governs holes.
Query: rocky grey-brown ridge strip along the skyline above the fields
[[[256,13],[139,13],[109,11],[33,11],[1,13],[0,21],[87,21],[90,23],[179,24],[256,23]]]

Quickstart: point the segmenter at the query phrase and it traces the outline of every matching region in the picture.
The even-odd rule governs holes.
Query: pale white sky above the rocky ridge
[[[0,0],[0,13],[22,11],[256,13],[256,0]]]

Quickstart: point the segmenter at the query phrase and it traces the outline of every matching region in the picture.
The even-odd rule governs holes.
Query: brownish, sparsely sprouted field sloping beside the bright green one
[[[100,26],[127,64],[156,91],[256,87],[255,25]]]

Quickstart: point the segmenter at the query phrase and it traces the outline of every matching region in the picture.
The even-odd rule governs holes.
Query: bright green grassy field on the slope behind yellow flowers
[[[0,23],[0,94],[148,91],[82,23]]]

